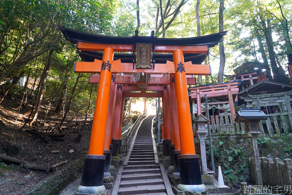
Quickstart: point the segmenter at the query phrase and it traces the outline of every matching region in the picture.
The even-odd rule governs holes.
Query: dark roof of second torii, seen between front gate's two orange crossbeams
[[[91,52],[91,51],[78,51],[83,61],[93,62],[94,59],[102,60],[102,52]],[[209,53],[204,54],[192,54],[184,53],[184,61],[192,61],[192,64],[201,64]],[[114,54],[114,60],[121,60],[122,63],[133,63],[133,54]],[[172,54],[155,54],[155,63],[165,64],[166,61],[173,61]]]

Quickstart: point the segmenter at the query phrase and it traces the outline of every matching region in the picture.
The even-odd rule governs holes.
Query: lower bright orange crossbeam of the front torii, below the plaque
[[[211,75],[210,65],[197,65],[197,64],[184,64],[187,75]],[[76,73],[100,73],[101,61],[95,60],[94,62],[75,62],[74,72]],[[137,73],[144,71],[145,73],[161,74],[170,71],[170,74],[176,72],[173,63],[155,64],[155,69],[134,69],[132,63],[119,63],[113,62],[111,69],[116,72],[122,73]]]

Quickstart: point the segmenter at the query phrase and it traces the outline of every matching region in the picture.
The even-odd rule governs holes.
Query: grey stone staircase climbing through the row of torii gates
[[[128,161],[123,166],[118,195],[163,195],[166,187],[160,166],[155,163],[151,123],[154,116],[148,116],[141,123],[135,141],[130,147]],[[155,148],[156,150],[156,148]],[[113,190],[114,194],[114,190]]]

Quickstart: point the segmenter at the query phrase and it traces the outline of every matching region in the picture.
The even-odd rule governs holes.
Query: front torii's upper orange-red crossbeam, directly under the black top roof
[[[103,52],[104,48],[113,48],[115,52],[133,52],[133,45],[128,44],[101,44],[77,42],[77,49],[81,51]],[[175,49],[181,49],[184,53],[207,53],[208,45],[177,46],[177,45],[155,45],[156,53],[172,53]]]

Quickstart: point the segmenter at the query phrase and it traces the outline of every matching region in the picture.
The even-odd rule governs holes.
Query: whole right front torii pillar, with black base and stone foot
[[[175,89],[179,120],[179,138],[181,155],[179,155],[180,184],[178,190],[203,192],[206,186],[202,181],[199,155],[195,153],[194,137],[192,132],[191,113],[188,100],[186,72],[184,68],[183,51],[173,51],[175,68]]]

